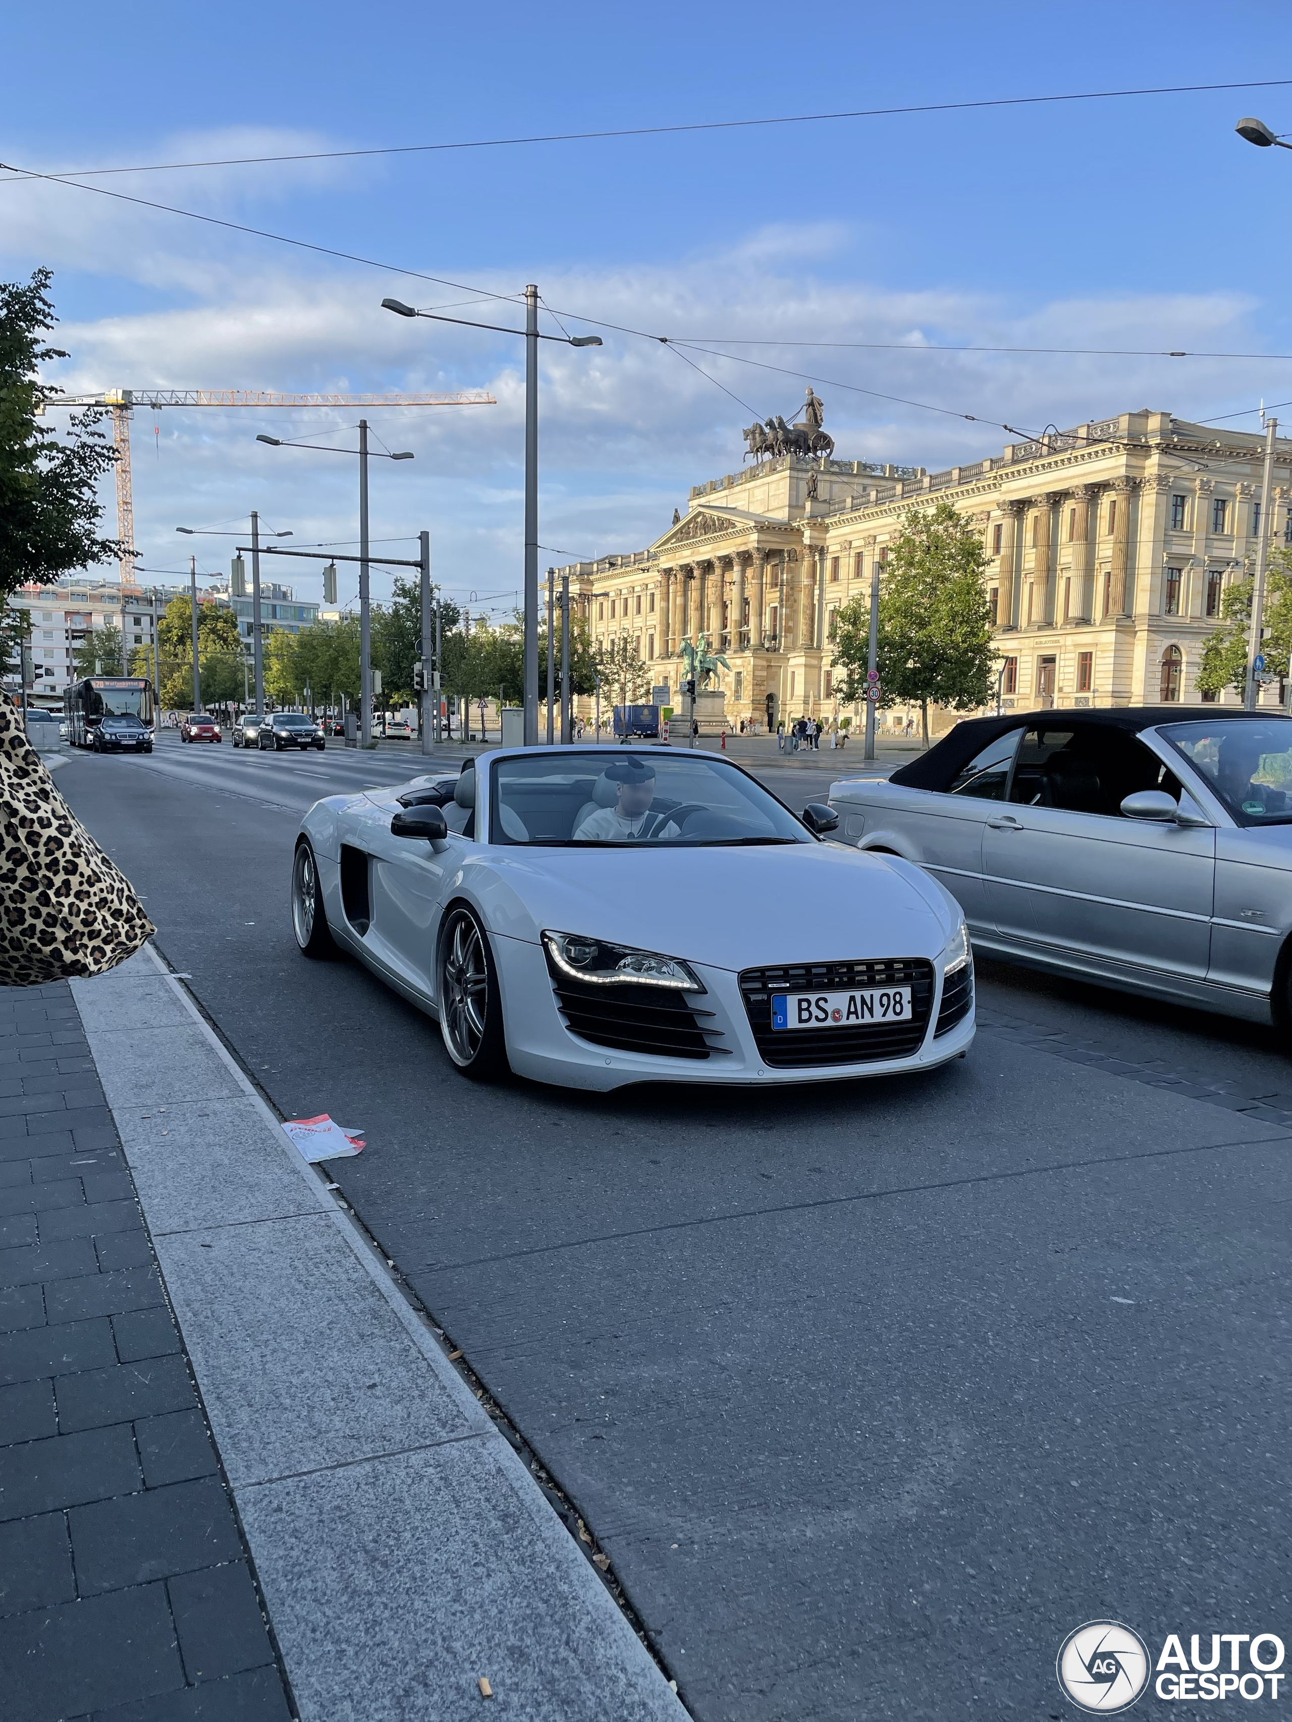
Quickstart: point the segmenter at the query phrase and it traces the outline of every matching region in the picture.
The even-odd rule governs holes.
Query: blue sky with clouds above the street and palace
[[[903,103],[1280,77],[1285,7],[934,3],[789,9],[494,3],[401,14],[241,0],[7,9],[0,158],[38,169],[670,126]],[[21,69],[26,67],[26,72]],[[813,126],[186,169],[95,184],[810,372],[841,456],[975,458],[1003,430],[1154,406],[1213,417],[1292,400],[1292,362],[954,355],[791,343],[1206,348],[1292,353],[1292,86]],[[520,343],[408,324],[384,294],[519,320],[506,305],[83,189],[0,184],[0,270],[55,269],[76,387],[488,387],[498,406],[374,412],[417,460],[374,472],[374,536],[431,527],[436,572],[506,606],[520,579]],[[555,324],[548,324],[555,329]],[[687,486],[741,463],[751,412],[791,417],[799,375],[603,331],[544,350],[541,537],[634,549]],[[734,346],[761,341],[763,346]],[[730,394],[717,384],[724,384]],[[732,398],[736,396],[736,398]],[[257,506],[298,541],[353,539],[339,460],[355,413],[134,420],[136,542],[181,568],[177,523]],[[1233,420],[1247,429],[1256,418]],[[219,539],[205,565],[224,565]],[[312,592],[317,579],[298,577]],[[381,582],[379,582],[381,584]]]

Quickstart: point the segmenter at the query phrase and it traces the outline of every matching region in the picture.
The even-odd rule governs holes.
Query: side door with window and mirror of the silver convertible
[[[999,933],[1075,956],[1204,978],[1216,833],[1128,820],[1125,796],[1180,784],[1125,730],[1028,728],[1009,801],[987,821],[984,882]]]

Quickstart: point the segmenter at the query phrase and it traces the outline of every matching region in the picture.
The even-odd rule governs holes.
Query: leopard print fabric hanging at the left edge
[[[0,987],[102,975],[155,932],[0,694]]]

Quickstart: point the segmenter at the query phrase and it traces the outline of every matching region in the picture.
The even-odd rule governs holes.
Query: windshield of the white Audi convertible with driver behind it
[[[773,796],[722,759],[606,747],[500,759],[501,844],[810,844]]]

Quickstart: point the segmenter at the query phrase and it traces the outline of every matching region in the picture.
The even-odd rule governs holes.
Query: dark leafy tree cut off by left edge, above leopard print
[[[52,279],[38,269],[29,282],[0,282],[0,598],[129,548],[98,536],[98,480],[117,458],[95,429],[102,412],[72,415],[62,437],[40,418],[62,394],[40,367],[67,358],[43,339],[57,322]]]

